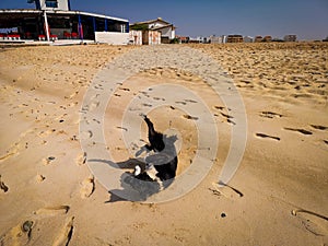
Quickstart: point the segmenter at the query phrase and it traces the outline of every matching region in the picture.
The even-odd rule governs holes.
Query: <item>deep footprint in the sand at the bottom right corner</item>
[[[292,215],[298,218],[303,226],[316,236],[328,235],[328,218],[321,214],[304,210],[294,209]]]

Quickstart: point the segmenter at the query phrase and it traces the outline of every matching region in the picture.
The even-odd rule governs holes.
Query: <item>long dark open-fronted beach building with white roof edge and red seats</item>
[[[71,10],[69,0],[27,0],[35,9],[0,10],[3,40],[89,39],[127,44],[129,21]]]

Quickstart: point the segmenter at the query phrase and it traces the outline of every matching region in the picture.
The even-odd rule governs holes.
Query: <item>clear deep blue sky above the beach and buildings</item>
[[[0,9],[34,8],[27,0],[0,0]],[[328,0],[71,0],[73,10],[128,19],[130,23],[163,17],[177,34],[296,34],[298,39],[328,36]]]

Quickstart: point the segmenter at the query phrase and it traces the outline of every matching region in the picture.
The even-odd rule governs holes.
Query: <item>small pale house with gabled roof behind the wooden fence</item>
[[[157,17],[156,20],[145,22],[133,23],[130,25],[130,28],[137,31],[157,31],[161,33],[161,43],[163,44],[168,44],[175,38],[176,30],[174,24],[162,20],[162,17]]]

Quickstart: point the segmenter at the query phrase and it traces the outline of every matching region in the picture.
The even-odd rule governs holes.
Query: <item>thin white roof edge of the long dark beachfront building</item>
[[[44,12],[43,10],[33,10],[33,9],[15,9],[15,10],[0,9],[0,14],[42,14],[43,12]],[[81,14],[81,15],[89,15],[89,16],[101,17],[101,19],[110,19],[120,22],[129,22],[126,19],[113,17],[108,15],[95,14],[95,13],[89,13],[82,11],[46,10],[46,12],[50,14],[69,14],[69,15]]]

